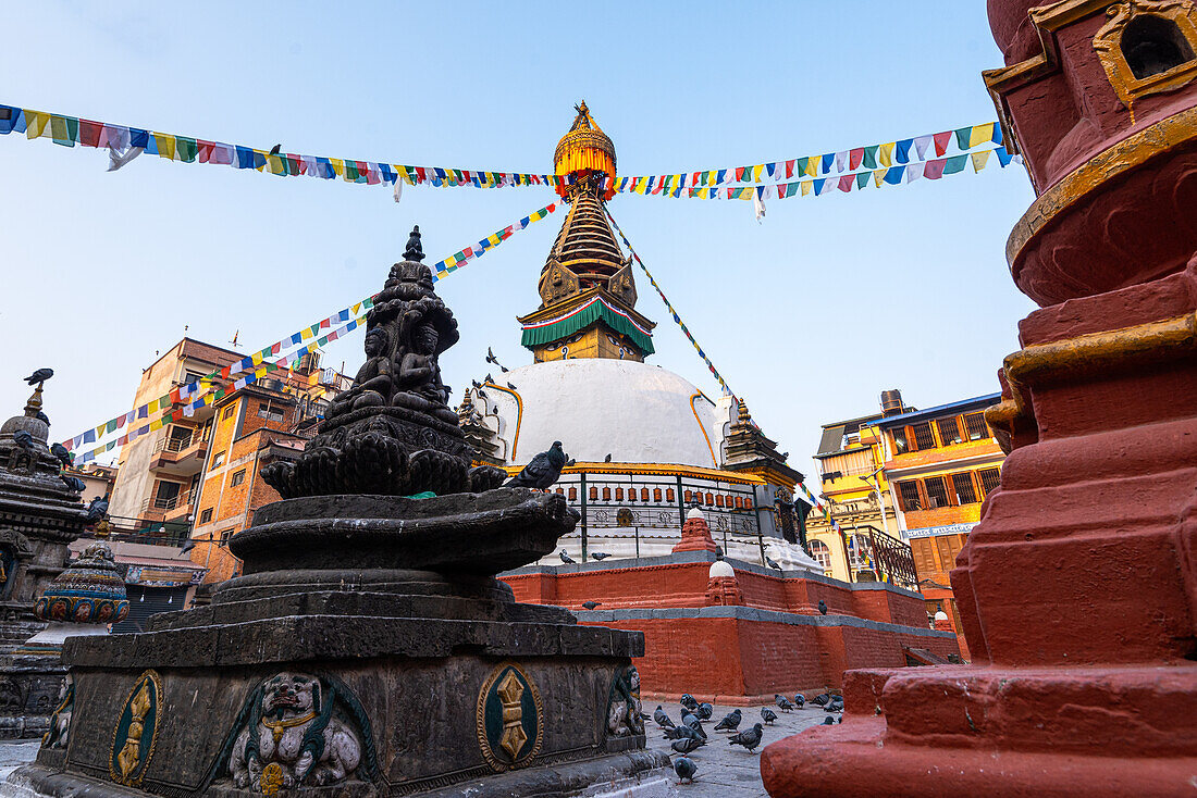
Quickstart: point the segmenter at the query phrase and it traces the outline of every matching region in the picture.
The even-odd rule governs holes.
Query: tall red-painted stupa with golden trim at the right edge
[[[970,666],[852,671],[774,798],[1197,794],[1197,4],[989,0],[1038,199],[1010,450],[956,560]]]

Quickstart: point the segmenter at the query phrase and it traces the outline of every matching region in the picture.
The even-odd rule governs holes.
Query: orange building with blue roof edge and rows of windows
[[[910,541],[928,613],[943,613],[968,656],[948,573],[968,531],[980,520],[985,497],[1001,481],[1005,455],[985,424],[984,410],[999,394],[911,410],[877,420],[885,446],[883,474]]]

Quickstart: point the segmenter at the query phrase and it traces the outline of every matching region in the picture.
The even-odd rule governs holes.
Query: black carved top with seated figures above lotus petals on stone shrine
[[[333,400],[297,462],[262,469],[284,499],[481,492],[505,476],[494,467],[470,469],[474,450],[446,404],[438,358],[457,342],[457,322],[419,262],[419,227],[403,255],[366,316],[366,361],[353,386]]]

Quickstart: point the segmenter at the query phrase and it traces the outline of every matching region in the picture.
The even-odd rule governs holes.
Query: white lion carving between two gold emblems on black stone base
[[[281,672],[250,694],[226,743],[235,786],[265,794],[378,778],[373,736],[352,692],[329,677]]]

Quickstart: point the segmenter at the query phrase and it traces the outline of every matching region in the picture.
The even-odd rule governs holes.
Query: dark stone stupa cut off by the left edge
[[[41,736],[60,703],[66,668],[57,652],[25,642],[50,620],[35,611],[37,601],[62,573],[87,517],[59,477],[61,462],[47,445],[44,380],[35,382],[24,412],[0,426],[0,737]]]

